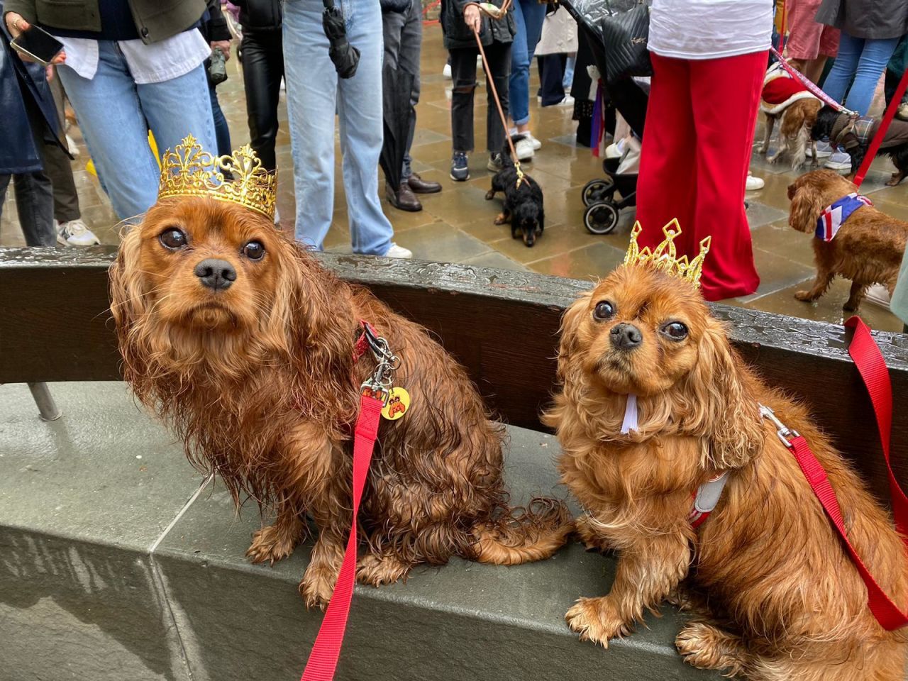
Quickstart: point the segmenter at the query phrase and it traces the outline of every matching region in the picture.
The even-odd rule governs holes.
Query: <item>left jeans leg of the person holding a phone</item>
[[[110,41],[99,41],[98,52],[98,69],[91,80],[65,64],[57,67],[57,74],[79,117],[98,176],[104,179],[104,191],[117,217],[125,220],[157,201],[161,172],[148,146],[148,128],[123,54]],[[208,97],[204,101],[208,104]],[[178,110],[175,107],[170,115]]]

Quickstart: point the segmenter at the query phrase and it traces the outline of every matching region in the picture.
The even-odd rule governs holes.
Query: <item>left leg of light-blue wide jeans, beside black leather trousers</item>
[[[338,92],[337,71],[321,28],[322,10],[321,3],[314,0],[288,0],[283,17],[296,238],[320,251],[334,212],[334,112]],[[375,168],[373,172],[378,173]]]

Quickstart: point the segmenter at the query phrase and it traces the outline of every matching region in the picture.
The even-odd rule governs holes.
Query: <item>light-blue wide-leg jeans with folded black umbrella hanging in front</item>
[[[379,202],[381,38],[379,0],[338,0],[347,39],[360,50],[352,78],[339,79],[321,27],[321,0],[286,0],[283,17],[287,115],[296,192],[296,238],[321,251],[334,212],[334,114],[341,119],[343,185],[353,252],[384,255],[394,231]]]

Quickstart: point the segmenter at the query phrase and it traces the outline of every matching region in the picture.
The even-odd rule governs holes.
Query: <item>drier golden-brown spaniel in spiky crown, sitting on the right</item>
[[[586,510],[578,531],[618,551],[607,596],[567,614],[607,646],[671,598],[694,613],[676,639],[688,663],[752,681],[901,681],[905,634],[886,632],[795,457],[759,405],[805,436],[854,546],[896,603],[908,602],[901,539],[803,407],[767,387],[729,345],[696,289],[621,267],[566,312],[558,358],[562,479]],[[622,434],[627,395],[637,428]],[[700,485],[726,472],[703,525]]]

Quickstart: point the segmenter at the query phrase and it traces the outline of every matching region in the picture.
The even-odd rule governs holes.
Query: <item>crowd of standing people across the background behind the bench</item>
[[[888,69],[887,93],[908,62],[908,0],[652,0],[648,49],[653,75],[627,78],[600,91],[605,117],[626,126],[639,153],[637,216],[645,225],[672,218],[684,226],[682,250],[712,236],[702,290],[709,300],[753,293],[759,285],[745,215],[745,191],[762,182],[748,172],[760,89],[770,46],[788,35],[791,64],[826,94],[867,114]],[[439,183],[414,173],[422,5],[416,0],[343,0],[350,44],[359,54],[352,73],[332,63],[321,0],[233,0],[242,26],[242,73],[249,137],[262,165],[277,167],[278,102],[286,87],[296,238],[321,249],[334,213],[335,117],[340,122],[344,195],[354,252],[408,258],[393,241],[379,192],[386,142],[382,68],[412,76],[406,152],[400,182],[385,196],[402,211],[419,211],[419,194]],[[234,6],[235,5],[235,6]],[[479,44],[486,79],[486,166],[503,167],[508,136],[531,161],[542,143],[530,119],[530,73],[538,63],[540,104],[573,105],[577,142],[597,145],[593,121],[597,87],[584,35],[557,2],[492,0],[507,9],[491,18],[469,0],[441,0],[439,23],[451,78],[450,178],[469,179],[475,152],[474,98]],[[232,34],[222,0],[0,0],[5,35],[0,87],[8,139],[0,144],[0,193],[10,180],[26,242],[84,245],[88,231],[74,192],[64,131],[64,102],[72,104],[98,178],[121,220],[134,220],[156,200],[159,166],[147,142],[173,148],[191,133],[204,149],[229,153],[230,133],[216,86],[231,56]],[[775,23],[774,23],[775,16]],[[781,21],[780,21],[781,19]],[[35,25],[64,50],[45,70],[10,49],[10,39]],[[787,29],[787,30],[786,30]],[[595,74],[593,78],[596,78]],[[507,117],[501,120],[492,86]],[[12,108],[11,108],[12,107]],[[174,114],[174,112],[179,114]],[[598,115],[598,114],[597,114]],[[908,118],[908,102],[899,115]],[[646,122],[646,123],[644,123]],[[611,127],[613,132],[616,123]],[[643,140],[646,139],[644,143]],[[642,145],[642,148],[641,148]],[[849,159],[829,143],[817,156],[844,170]],[[395,164],[396,167],[396,164]],[[124,172],[128,169],[128,172]],[[387,173],[386,173],[387,175]],[[279,219],[276,218],[276,220]],[[641,246],[661,240],[646,230]]]

